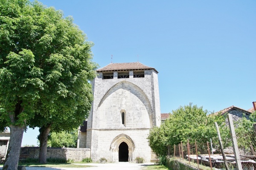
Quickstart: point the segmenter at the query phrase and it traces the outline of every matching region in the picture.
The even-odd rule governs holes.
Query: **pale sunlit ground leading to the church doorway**
[[[26,170],[142,170],[145,166],[152,165],[154,163],[143,163],[135,164],[129,162],[119,162],[119,163],[108,163],[108,164],[96,164],[90,163],[86,165],[91,165],[94,167],[82,167],[82,168],[68,168],[68,167],[26,167]],[[2,167],[0,167],[2,170]]]

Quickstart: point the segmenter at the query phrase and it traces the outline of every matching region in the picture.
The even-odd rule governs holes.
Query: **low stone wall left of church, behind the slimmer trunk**
[[[39,157],[39,147],[21,147],[20,155],[27,158]],[[73,159],[82,161],[84,158],[90,158],[89,148],[69,148],[69,147],[47,147],[47,158]]]

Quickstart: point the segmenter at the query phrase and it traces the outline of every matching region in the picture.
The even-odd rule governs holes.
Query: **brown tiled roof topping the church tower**
[[[141,64],[140,62],[126,62],[126,63],[110,63],[103,68],[100,68],[96,71],[104,72],[104,71],[131,71],[131,70],[154,70],[158,73],[155,68],[148,67],[146,65]]]

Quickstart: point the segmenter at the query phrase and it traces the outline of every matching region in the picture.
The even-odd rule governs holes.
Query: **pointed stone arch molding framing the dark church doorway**
[[[111,142],[110,150],[112,151],[112,161],[113,162],[118,162],[119,157],[118,157],[118,151],[119,151],[119,145],[125,142],[128,145],[128,161],[131,162],[134,160],[134,149],[135,149],[135,144],[133,140],[125,134],[120,134],[116,136],[113,141]]]

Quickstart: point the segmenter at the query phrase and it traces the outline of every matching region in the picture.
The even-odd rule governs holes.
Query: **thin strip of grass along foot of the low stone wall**
[[[61,163],[47,163],[47,164],[40,164],[40,163],[25,163],[19,164],[26,167],[93,167],[90,165],[78,165],[78,164],[61,164]]]

